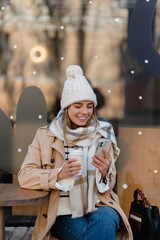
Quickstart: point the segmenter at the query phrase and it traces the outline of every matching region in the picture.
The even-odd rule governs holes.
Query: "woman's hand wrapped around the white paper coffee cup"
[[[81,170],[81,164],[77,163],[76,158],[68,159],[57,175],[57,180],[62,180],[64,178],[76,175]]]

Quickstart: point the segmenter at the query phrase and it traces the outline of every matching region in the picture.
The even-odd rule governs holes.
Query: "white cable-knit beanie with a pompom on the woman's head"
[[[96,107],[96,95],[83,75],[83,70],[80,66],[68,66],[66,68],[66,78],[61,97],[61,109],[65,109],[72,103],[84,100],[93,102]]]

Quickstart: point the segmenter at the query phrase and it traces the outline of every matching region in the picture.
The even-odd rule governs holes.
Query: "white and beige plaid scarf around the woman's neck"
[[[57,117],[50,124],[50,130],[55,137],[64,142],[63,136],[63,111],[61,110]],[[84,151],[83,172],[81,176],[73,176],[63,179],[61,184],[69,188],[70,206],[72,217],[84,216],[88,212],[95,210],[95,204],[98,202],[97,186],[96,186],[96,169],[92,164],[92,157],[95,154],[99,138],[109,138],[112,140],[114,161],[119,155],[114,131],[112,125],[108,122],[101,122],[95,129],[95,123],[91,122],[88,127],[78,127],[77,129],[66,128],[66,138],[70,146],[78,146]],[[67,190],[67,189],[66,189]]]

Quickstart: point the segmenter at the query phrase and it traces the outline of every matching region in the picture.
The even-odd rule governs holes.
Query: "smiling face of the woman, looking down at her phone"
[[[68,107],[68,116],[72,122],[72,128],[84,127],[93,115],[93,102],[80,101]]]

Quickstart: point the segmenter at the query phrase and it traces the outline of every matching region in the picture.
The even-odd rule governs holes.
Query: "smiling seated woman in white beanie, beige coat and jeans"
[[[38,129],[18,174],[21,187],[50,191],[42,203],[33,240],[132,240],[128,220],[112,189],[119,154],[111,124],[96,119],[96,95],[82,69],[66,69],[61,110],[49,127]],[[112,141],[96,154],[98,140]],[[69,158],[84,152],[83,164]],[[82,168],[82,175],[77,175]]]

